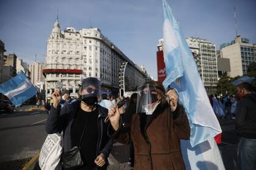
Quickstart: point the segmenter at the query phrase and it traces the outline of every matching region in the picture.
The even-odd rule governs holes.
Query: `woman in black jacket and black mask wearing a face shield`
[[[61,92],[55,89],[52,94],[54,103],[49,112],[46,132],[63,132],[63,154],[78,147],[84,165],[75,169],[107,169],[107,157],[112,149],[113,140],[107,135],[104,123],[108,110],[99,106],[100,83],[97,78],[85,78],[79,89],[79,100],[60,107]],[[65,162],[63,169],[66,169]]]

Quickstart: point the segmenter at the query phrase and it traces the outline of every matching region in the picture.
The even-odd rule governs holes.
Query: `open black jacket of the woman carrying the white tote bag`
[[[48,134],[54,134],[63,131],[63,152],[67,152],[73,147],[71,144],[71,126],[74,120],[74,115],[79,107],[79,101],[74,101],[73,103],[66,104],[62,109],[60,107],[55,109],[55,107],[52,106],[49,112],[45,126],[46,132]],[[108,124],[104,122],[108,110],[99,105],[97,105],[97,107],[99,109],[97,155],[100,153],[104,154],[105,161],[107,162],[107,157],[110,154],[113,145],[112,138],[107,135]],[[108,164],[108,162],[106,164]]]

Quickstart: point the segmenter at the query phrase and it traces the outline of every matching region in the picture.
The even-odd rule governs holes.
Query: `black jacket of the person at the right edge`
[[[244,95],[238,101],[236,131],[241,137],[256,139],[256,94]]]

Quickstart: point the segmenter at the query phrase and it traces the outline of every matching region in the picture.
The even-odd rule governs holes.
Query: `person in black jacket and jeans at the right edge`
[[[249,83],[238,84],[240,100],[236,106],[238,144],[237,169],[256,169],[256,94]]]

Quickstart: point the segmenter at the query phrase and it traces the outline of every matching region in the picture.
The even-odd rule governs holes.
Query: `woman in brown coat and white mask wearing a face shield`
[[[165,89],[158,81],[149,81],[139,88],[137,113],[127,131],[120,126],[123,108],[112,107],[108,112],[108,133],[120,143],[133,141],[135,170],[185,169],[180,152],[180,139],[190,138],[190,125],[178,95]],[[166,97],[167,96],[167,97]],[[168,98],[168,100],[166,100]]]

